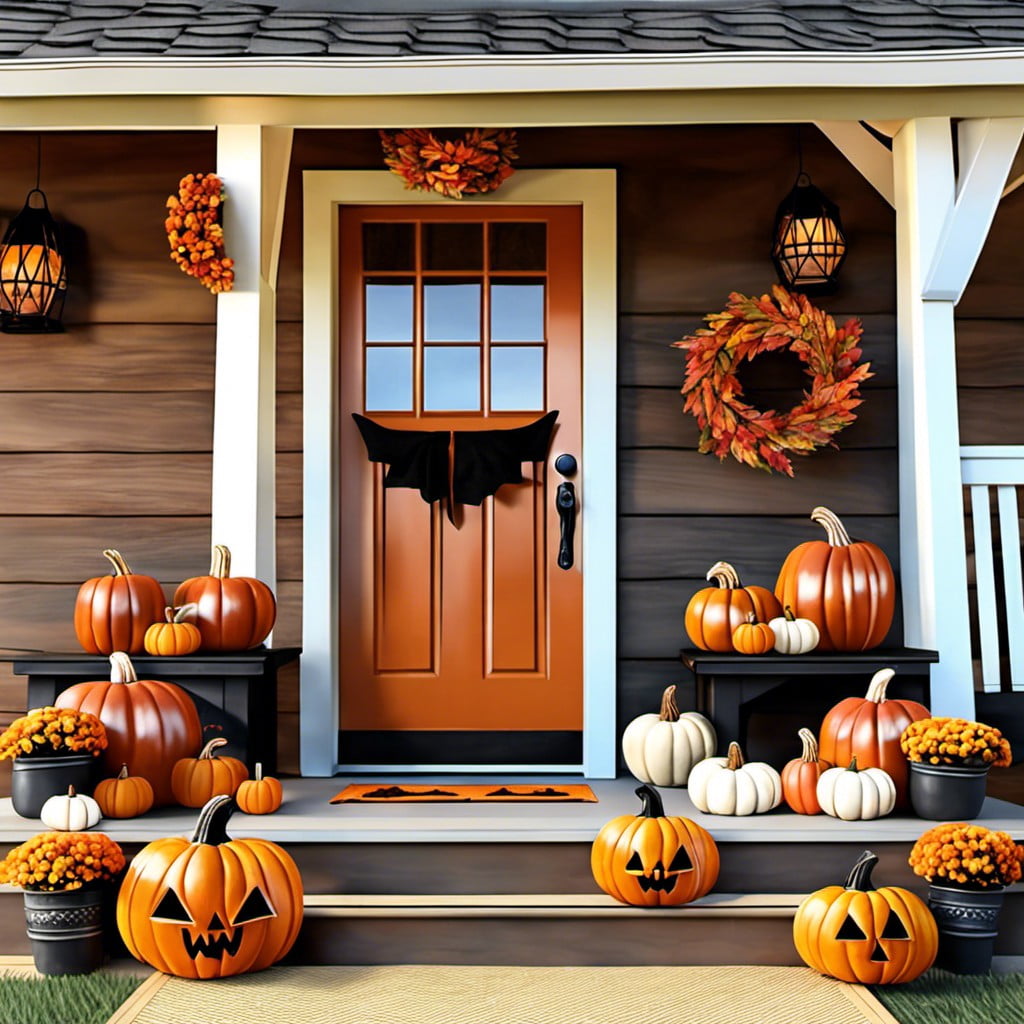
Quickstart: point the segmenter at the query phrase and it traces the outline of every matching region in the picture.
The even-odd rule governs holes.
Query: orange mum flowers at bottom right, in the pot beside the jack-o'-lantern
[[[929,828],[910,851],[914,874],[936,885],[987,889],[1021,878],[1024,846],[1001,831],[959,821]]]

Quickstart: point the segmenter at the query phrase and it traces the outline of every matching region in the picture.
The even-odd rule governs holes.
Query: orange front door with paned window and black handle
[[[579,208],[340,217],[340,760],[579,763],[584,518],[559,568],[554,468],[585,457]],[[350,415],[443,432],[451,474],[474,447],[461,432],[553,410],[547,457],[480,506],[385,487]]]

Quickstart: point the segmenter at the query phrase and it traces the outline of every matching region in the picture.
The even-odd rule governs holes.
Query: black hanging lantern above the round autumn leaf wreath
[[[846,259],[839,207],[811,184],[803,170],[775,213],[771,259],[779,280],[790,288],[809,295],[836,289]]]

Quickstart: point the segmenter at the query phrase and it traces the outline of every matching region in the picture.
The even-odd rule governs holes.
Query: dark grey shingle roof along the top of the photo
[[[1024,46],[1021,0],[2,0],[0,57]]]

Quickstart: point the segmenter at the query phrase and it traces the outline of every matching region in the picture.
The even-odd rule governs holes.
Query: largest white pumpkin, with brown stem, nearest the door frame
[[[715,727],[695,711],[679,713],[676,687],[662,694],[662,710],[640,715],[623,732],[626,766],[651,785],[686,785],[693,766],[715,753]]]

